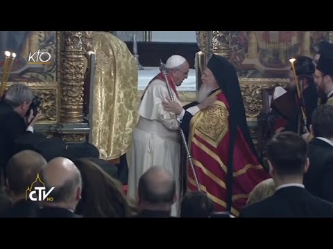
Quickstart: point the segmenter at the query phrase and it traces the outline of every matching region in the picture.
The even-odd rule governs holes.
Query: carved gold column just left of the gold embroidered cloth
[[[61,57],[61,122],[83,122],[83,80],[85,57],[83,32],[65,31]]]

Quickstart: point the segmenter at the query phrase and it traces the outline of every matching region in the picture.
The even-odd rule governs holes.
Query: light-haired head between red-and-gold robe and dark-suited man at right
[[[275,183],[273,178],[266,179],[255,186],[248,196],[247,205],[262,201],[273,195],[275,192]]]

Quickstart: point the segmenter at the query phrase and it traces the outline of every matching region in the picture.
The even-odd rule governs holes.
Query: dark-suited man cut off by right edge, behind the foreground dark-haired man
[[[310,165],[304,185],[314,196],[333,203],[333,106],[323,104],[312,115],[314,138],[309,142]]]

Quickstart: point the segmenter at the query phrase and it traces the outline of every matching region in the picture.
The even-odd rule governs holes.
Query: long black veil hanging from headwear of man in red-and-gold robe
[[[239,86],[239,81],[236,73],[236,69],[228,59],[220,55],[212,55],[209,62],[207,63],[207,68],[214,74],[220,89],[225,93],[226,98],[229,102],[229,129],[230,129],[230,151],[228,155],[228,176],[227,176],[227,192],[228,201],[227,209],[230,212],[232,206],[232,181],[233,181],[233,159],[234,159],[234,144],[237,139],[237,127],[243,133],[244,138],[248,142],[248,145],[252,149],[255,156],[257,156],[257,151],[255,150],[255,145],[250,136],[250,130],[248,128],[248,123],[246,121],[246,113],[244,109],[244,102],[241,95],[241,88]],[[257,156],[258,158],[258,156]]]

